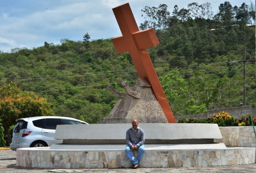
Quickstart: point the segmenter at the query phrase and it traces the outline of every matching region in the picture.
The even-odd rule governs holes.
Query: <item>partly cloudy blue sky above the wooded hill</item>
[[[91,40],[121,35],[112,8],[129,3],[139,26],[145,6],[166,4],[187,8],[189,3],[211,3],[214,14],[225,0],[0,0],[0,51],[13,48],[37,48],[44,42],[61,44],[61,39],[82,41],[88,33]],[[228,0],[232,6],[247,5],[251,0]],[[255,1],[252,0],[253,4]]]

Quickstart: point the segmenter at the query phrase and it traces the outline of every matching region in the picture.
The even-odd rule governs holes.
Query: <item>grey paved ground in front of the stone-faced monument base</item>
[[[16,151],[0,151],[0,173],[256,173],[256,163],[220,167],[121,169],[35,169],[16,167]]]

